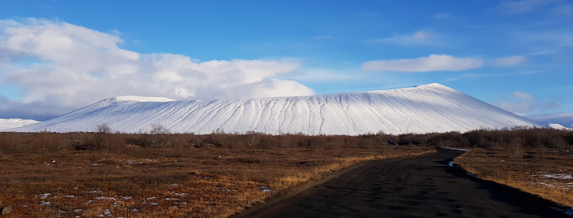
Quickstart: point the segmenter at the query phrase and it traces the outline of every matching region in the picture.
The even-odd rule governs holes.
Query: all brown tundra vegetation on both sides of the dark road
[[[0,133],[0,207],[14,208],[5,217],[226,217],[359,162],[433,150],[402,145],[468,147],[455,161],[470,172],[572,202],[564,175],[573,171],[573,132],[566,130],[272,136],[170,133],[160,125],[127,134],[101,124],[89,133]],[[547,183],[554,187],[543,179],[555,179]],[[528,181],[537,186],[516,185]]]

